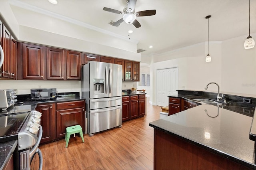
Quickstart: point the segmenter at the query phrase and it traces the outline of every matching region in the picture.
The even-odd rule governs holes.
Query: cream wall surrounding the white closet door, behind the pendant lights
[[[256,34],[251,34],[254,38]],[[209,42],[212,61],[205,62],[207,42],[154,55],[150,64],[150,103],[156,105],[156,70],[179,66],[179,89],[205,91],[216,82],[220,91],[256,97],[256,47],[244,49],[246,35],[223,42]],[[144,57],[142,57],[142,60]],[[209,85],[207,91],[217,92]]]

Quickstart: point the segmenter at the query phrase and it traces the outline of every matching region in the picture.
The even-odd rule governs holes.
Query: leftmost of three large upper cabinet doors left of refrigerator
[[[23,79],[44,79],[44,47],[23,44]]]

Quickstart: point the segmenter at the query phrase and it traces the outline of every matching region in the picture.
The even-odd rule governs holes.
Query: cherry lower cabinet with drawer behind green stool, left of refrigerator
[[[66,127],[81,125],[85,132],[85,101],[67,101],[38,104],[36,110],[42,113],[42,143],[65,137]]]

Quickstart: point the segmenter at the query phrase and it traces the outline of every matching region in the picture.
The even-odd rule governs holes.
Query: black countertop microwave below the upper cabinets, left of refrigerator
[[[56,88],[44,88],[44,89],[30,89],[31,99],[56,99]]]

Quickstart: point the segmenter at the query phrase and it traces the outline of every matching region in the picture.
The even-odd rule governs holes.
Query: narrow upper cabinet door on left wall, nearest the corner
[[[17,43],[14,39],[11,41],[11,58],[10,58],[10,78],[16,79],[16,48]]]

